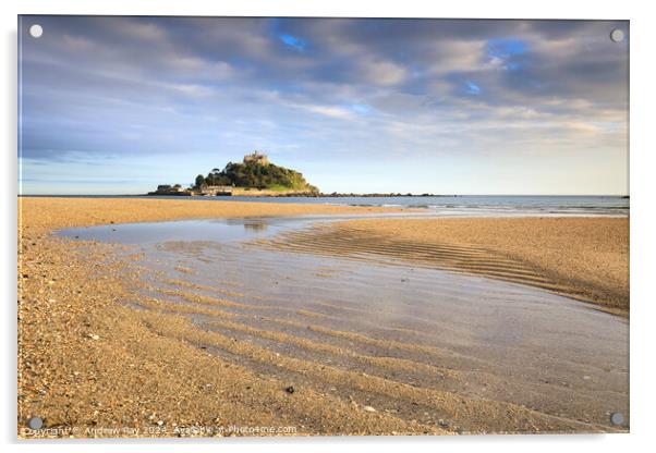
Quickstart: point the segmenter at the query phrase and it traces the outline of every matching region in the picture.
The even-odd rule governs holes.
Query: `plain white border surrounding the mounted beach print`
[[[631,433],[616,436],[524,436],[524,437],[466,437],[447,438],[313,438],[296,440],[241,439],[221,442],[171,443],[146,442],[121,444],[126,451],[157,449],[160,452],[198,449],[232,449],[244,451],[283,450],[286,452],[347,451],[364,449],[436,451],[437,449],[463,449],[465,451],[525,451],[550,452],[554,449],[594,449],[595,452],[620,449],[639,449],[653,443],[654,420],[654,353],[656,344],[652,326],[656,301],[648,285],[652,269],[648,257],[653,256],[654,240],[648,234],[656,231],[653,212],[656,209],[654,169],[656,169],[653,135],[654,62],[653,45],[656,42],[656,22],[649,14],[648,2],[548,0],[542,2],[495,0],[458,2],[429,2],[426,0],[23,0],[0,3],[2,15],[2,89],[3,108],[3,196],[2,196],[2,250],[0,274],[7,297],[2,313],[5,322],[2,340],[2,420],[0,430],[9,450],[47,448],[51,451],[83,451],[88,444],[29,443],[20,445],[15,439],[15,282],[16,282],[16,14],[138,14],[138,15],[276,15],[276,16],[397,16],[397,17],[485,17],[485,19],[622,19],[631,21]],[[13,317],[13,318],[12,318]],[[652,442],[649,442],[652,441]],[[111,451],[116,442],[97,441],[99,451]]]

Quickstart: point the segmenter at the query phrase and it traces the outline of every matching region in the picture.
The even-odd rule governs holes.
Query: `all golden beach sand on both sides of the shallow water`
[[[426,332],[399,329],[394,339],[338,330],[331,322],[340,322],[332,318],[343,307],[294,308],[289,317],[283,307],[231,289],[230,279],[221,287],[193,283],[193,270],[181,266],[178,279],[155,297],[145,291],[146,270],[130,247],[52,235],[111,223],[388,210],[28,197],[19,199],[19,209],[20,437],[34,436],[23,427],[35,416],[47,428],[38,437],[624,430],[608,426],[603,402],[567,409],[544,401],[545,389],[568,400],[616,372],[614,365],[591,376],[581,371],[581,382],[526,384],[531,396],[520,401],[487,365],[408,340]],[[625,219],[356,220],[264,241],[266,249],[264,243],[357,260],[391,257],[521,283],[532,287],[531,297],[543,290],[566,294],[618,314],[629,306]],[[204,316],[211,317],[211,329],[191,320]],[[242,341],[244,335],[259,343]],[[267,347],[272,342],[282,347]],[[321,362],[326,357],[335,360]],[[348,357],[347,365],[340,357]]]

